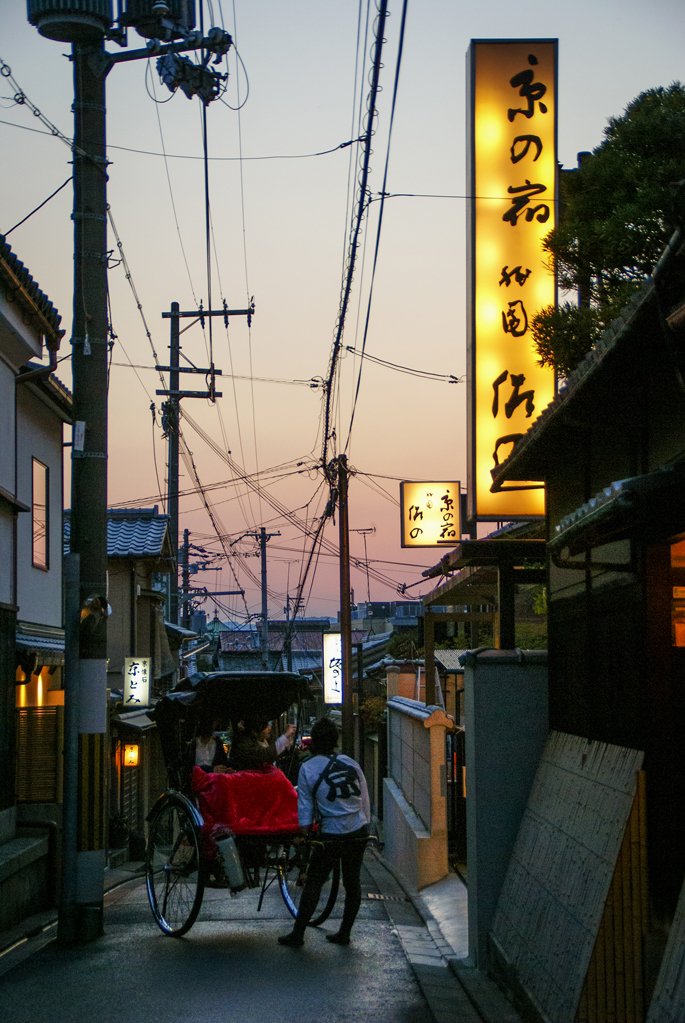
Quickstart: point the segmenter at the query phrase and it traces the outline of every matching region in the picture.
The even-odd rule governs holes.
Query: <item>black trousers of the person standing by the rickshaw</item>
[[[355,918],[362,903],[362,860],[369,830],[364,825],[359,831],[349,835],[328,835],[323,837],[323,845],[315,845],[307,872],[307,881],[300,899],[300,911],[294,922],[294,932],[303,936],[305,928],[314,916],[321,889],[328,880],[336,862],[340,864],[345,888],[345,908],[340,932],[350,934]]]

